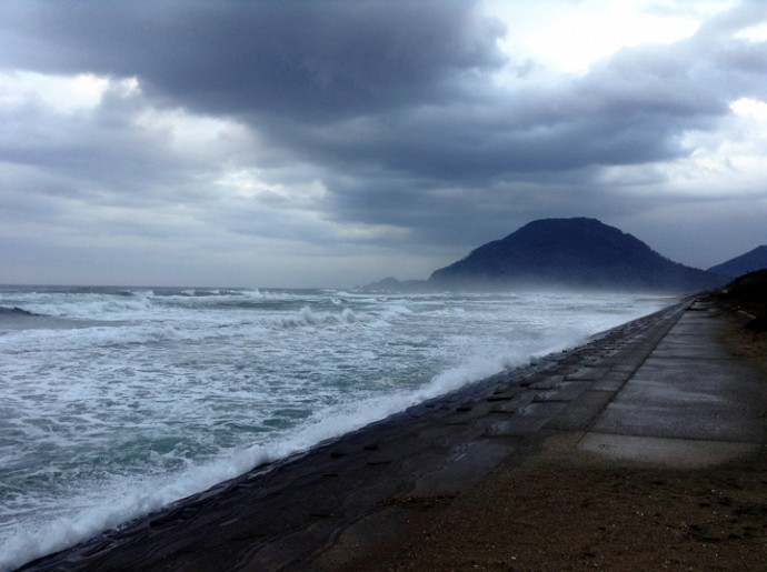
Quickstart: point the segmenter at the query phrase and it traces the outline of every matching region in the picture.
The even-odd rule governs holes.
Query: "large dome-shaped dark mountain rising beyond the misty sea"
[[[562,287],[694,291],[721,277],[661,257],[596,219],[542,219],[432,272],[436,288]]]

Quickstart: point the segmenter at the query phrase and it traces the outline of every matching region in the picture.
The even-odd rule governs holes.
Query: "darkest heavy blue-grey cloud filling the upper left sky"
[[[139,76],[211,113],[302,121],[442,97],[504,59],[502,28],[469,1],[23,2],[7,8],[6,62]]]

